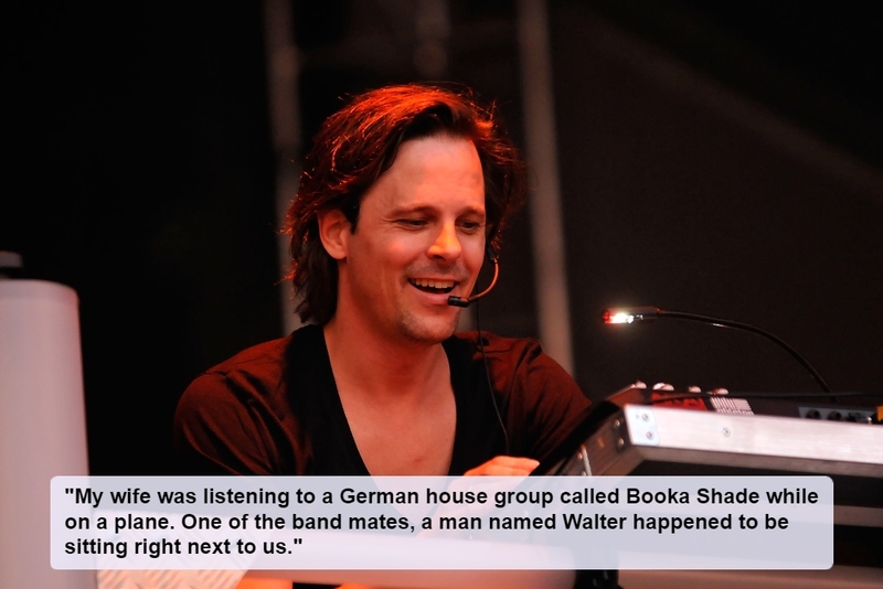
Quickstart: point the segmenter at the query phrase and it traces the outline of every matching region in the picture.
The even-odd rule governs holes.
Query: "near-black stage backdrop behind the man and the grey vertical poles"
[[[421,78],[415,3],[295,1],[301,143],[340,97]],[[575,376],[815,390],[768,342],[662,323],[656,304],[770,330],[838,390],[883,383],[883,76],[874,3],[549,3]],[[81,299],[95,474],[170,470],[202,370],[283,333],[260,3],[49,1],[3,19],[0,249]],[[515,8],[449,2],[445,77],[523,142]],[[482,323],[538,334],[528,215]],[[39,459],[39,457],[35,457]]]

